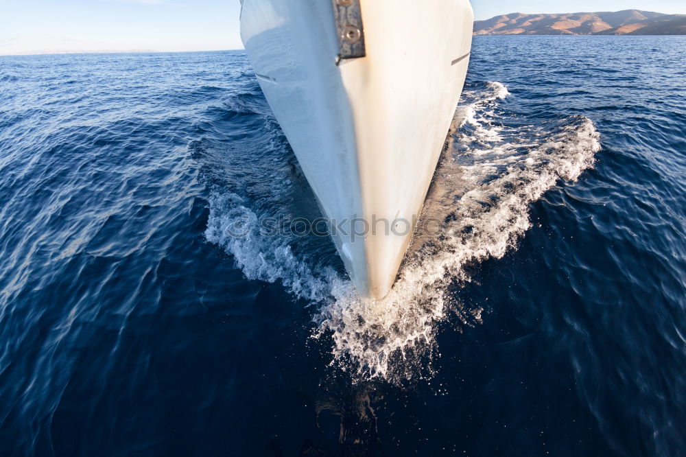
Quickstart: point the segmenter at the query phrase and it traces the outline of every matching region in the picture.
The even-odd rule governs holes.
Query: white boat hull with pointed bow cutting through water
[[[241,37],[322,211],[344,229],[333,239],[355,287],[383,298],[462,92],[473,13],[468,0],[360,6],[366,56],[339,65],[331,0],[244,0]]]

